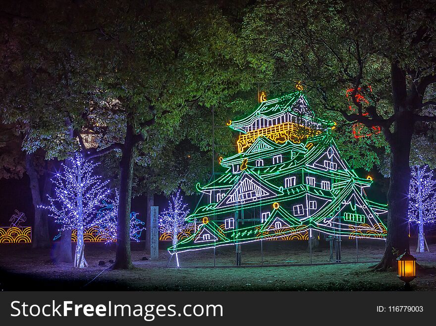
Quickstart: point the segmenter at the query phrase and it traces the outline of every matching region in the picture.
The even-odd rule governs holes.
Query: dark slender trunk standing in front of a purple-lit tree
[[[119,202],[116,225],[116,254],[113,269],[133,268],[130,253],[130,206],[132,198],[132,176],[134,161],[134,129],[127,123],[126,137],[119,163]]]

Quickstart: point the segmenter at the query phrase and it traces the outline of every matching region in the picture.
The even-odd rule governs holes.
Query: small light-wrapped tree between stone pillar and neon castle
[[[159,228],[162,233],[169,233],[172,238],[172,245],[177,244],[177,234],[184,231],[192,223],[186,224],[185,218],[189,214],[186,209],[187,204],[183,203],[183,197],[180,196],[180,190],[171,196],[168,201],[168,209],[164,209],[159,215]]]

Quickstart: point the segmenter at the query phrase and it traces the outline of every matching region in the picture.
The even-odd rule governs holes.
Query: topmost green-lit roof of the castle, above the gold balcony
[[[302,92],[294,92],[279,98],[262,102],[259,107],[246,118],[232,121],[230,128],[245,133],[243,127],[251,125],[258,118],[274,119],[284,113],[309,120],[327,128],[332,122],[317,118]],[[324,129],[321,128],[321,129]]]

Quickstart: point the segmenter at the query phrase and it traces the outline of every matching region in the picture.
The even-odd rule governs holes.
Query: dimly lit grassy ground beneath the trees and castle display
[[[403,288],[396,272],[375,272],[368,268],[374,264],[372,261],[382,257],[382,241],[361,241],[358,263],[355,243],[343,242],[342,263],[326,264],[329,249],[323,248],[313,253],[312,265],[307,243],[264,242],[263,255],[258,245],[243,247],[242,267],[229,267],[234,264],[234,248],[228,247],[217,249],[216,267],[213,267],[213,251],[180,254],[180,264],[185,267],[175,268],[172,260],[170,267],[165,268],[169,258],[165,250],[160,250],[158,261],[144,261],[142,258],[148,255],[134,250],[135,269],[110,270],[108,261],[114,259],[114,247],[87,244],[89,267],[78,270],[71,264],[53,263],[50,250],[2,244],[0,290],[395,291]],[[418,254],[411,248],[418,263],[425,267],[412,282],[414,290],[436,290],[436,245],[430,246],[430,250],[431,253]],[[101,266],[99,261],[106,264]],[[262,261],[264,266],[256,267]]]

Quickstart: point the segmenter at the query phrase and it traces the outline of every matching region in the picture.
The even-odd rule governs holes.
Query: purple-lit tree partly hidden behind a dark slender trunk
[[[100,209],[94,221],[94,225],[98,227],[99,234],[106,239],[106,243],[116,241],[116,218],[118,216],[118,191],[115,192],[115,198],[104,201],[104,208]],[[130,213],[130,239],[139,241],[141,232],[145,230],[143,221],[137,218],[138,213]]]

